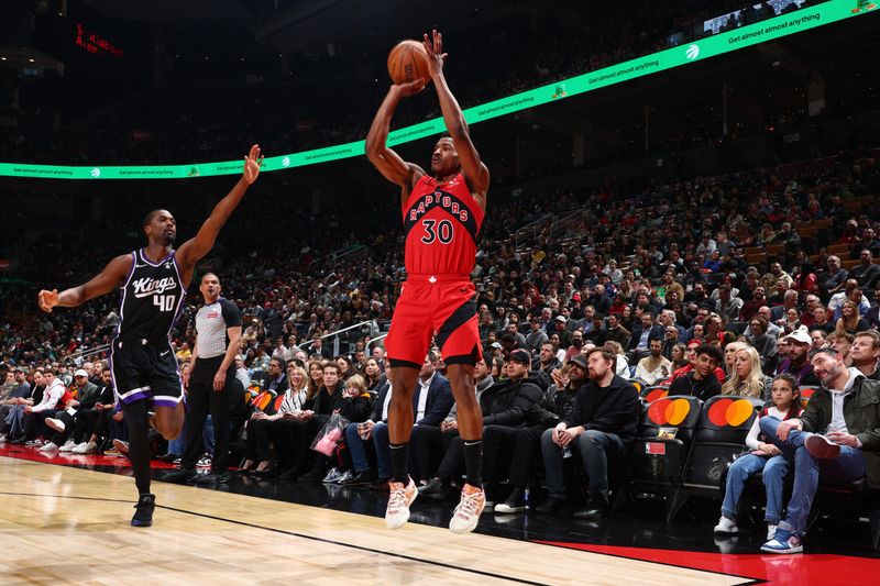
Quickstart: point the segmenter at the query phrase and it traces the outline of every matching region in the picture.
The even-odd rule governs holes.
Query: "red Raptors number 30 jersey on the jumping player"
[[[428,175],[413,187],[403,207],[408,275],[461,275],[474,269],[483,210],[464,176],[446,183]]]

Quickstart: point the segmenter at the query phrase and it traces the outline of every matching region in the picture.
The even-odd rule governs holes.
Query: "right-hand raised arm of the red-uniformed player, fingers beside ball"
[[[428,38],[426,34],[422,44],[428,53],[428,71],[431,74],[433,85],[437,87],[440,110],[443,112],[443,122],[452,136],[455,151],[459,153],[459,162],[464,169],[464,175],[471,183],[474,196],[483,199],[483,204],[485,206],[484,198],[488,190],[490,179],[488,168],[480,159],[480,153],[476,152],[476,147],[471,141],[468,122],[464,120],[461,106],[459,106],[449,89],[446,77],[443,77],[443,62],[447,58],[447,54],[443,53],[443,35],[432,31],[431,36],[431,38]]]

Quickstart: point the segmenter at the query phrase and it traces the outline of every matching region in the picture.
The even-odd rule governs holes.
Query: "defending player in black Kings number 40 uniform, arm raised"
[[[183,385],[170,331],[184,307],[186,289],[196,263],[213,247],[244,192],[260,175],[263,156],[253,145],[244,158],[244,173],[221,199],[198,233],[176,251],[177,224],[170,212],[153,210],[144,220],[145,248],[117,256],[98,276],[78,287],[42,290],[40,309],[77,307],[116,288],[122,290],[119,329],[110,350],[113,385],[129,428],[129,457],[140,497],[131,524],[153,523],[155,497],[150,494],[150,411],[155,428],[167,440],[180,434],[184,424]]]

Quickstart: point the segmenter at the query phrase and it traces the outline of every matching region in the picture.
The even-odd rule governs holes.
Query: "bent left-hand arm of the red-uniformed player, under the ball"
[[[392,115],[394,115],[394,110],[400,99],[418,93],[422,89],[425,89],[424,79],[392,86],[382,101],[382,106],[378,107],[378,112],[376,112],[366,135],[366,158],[386,179],[399,185],[405,192],[413,188],[413,184],[425,175],[425,172],[415,163],[407,163],[400,158],[400,155],[388,148],[388,131]]]

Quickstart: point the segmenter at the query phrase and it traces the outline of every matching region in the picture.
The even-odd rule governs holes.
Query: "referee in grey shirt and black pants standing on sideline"
[[[180,469],[166,482],[213,484],[229,482],[229,397],[235,382],[235,354],[241,339],[241,312],[220,297],[220,279],[213,273],[201,277],[205,305],[196,313],[196,345],[188,384],[184,422],[185,447]],[[198,476],[196,463],[204,452],[202,430],[210,407],[215,449],[210,474]]]

